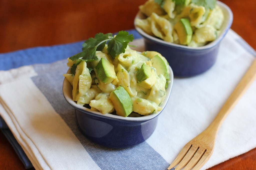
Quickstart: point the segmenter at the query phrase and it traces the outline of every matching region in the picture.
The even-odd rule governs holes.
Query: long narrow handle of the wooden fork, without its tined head
[[[250,68],[242,77],[241,81],[238,83],[234,91],[231,93],[227,101],[224,103],[219,113],[215,117],[214,121],[209,125],[211,130],[215,130],[216,132],[219,130],[221,124],[223,123],[226,116],[236,105],[241,96],[245,93],[248,87],[251,85],[253,80],[256,78],[256,59],[254,59]]]

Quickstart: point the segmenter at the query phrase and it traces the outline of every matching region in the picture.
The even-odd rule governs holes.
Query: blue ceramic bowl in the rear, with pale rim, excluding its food
[[[162,54],[173,69],[175,77],[191,77],[201,74],[215,63],[220,42],[227,34],[233,21],[230,8],[222,2],[217,1],[218,6],[224,14],[224,22],[220,29],[220,35],[211,43],[202,47],[188,47],[184,45],[169,43],[145,33],[135,25],[137,32],[144,38],[146,51],[157,51]],[[138,12],[136,18],[145,19],[145,15]]]

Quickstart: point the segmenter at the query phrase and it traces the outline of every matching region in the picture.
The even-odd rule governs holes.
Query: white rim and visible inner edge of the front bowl
[[[166,89],[166,97],[163,101],[163,103],[161,103],[159,106],[164,108],[168,102],[168,99],[170,97],[171,94],[171,90],[172,90],[172,86],[173,86],[173,71],[171,69],[171,67],[169,67],[170,73],[169,73],[169,81],[170,83],[168,84],[168,88]],[[69,104],[71,104],[74,108],[77,108],[79,110],[83,110],[86,112],[90,112],[96,115],[101,115],[101,116],[106,116],[106,117],[110,117],[110,118],[114,118],[114,119],[120,119],[120,120],[129,120],[129,121],[146,121],[146,120],[150,120],[153,117],[156,117],[157,115],[159,115],[163,110],[159,111],[156,114],[151,114],[151,115],[147,115],[147,116],[142,116],[142,117],[123,117],[123,116],[118,116],[118,115],[113,115],[110,113],[107,114],[102,114],[98,111],[92,111],[91,109],[88,109],[86,107],[83,106],[79,106],[76,102],[74,102],[72,100],[72,85],[69,83],[69,81],[65,78],[63,81],[63,95],[65,97],[65,99],[68,101]],[[85,113],[86,114],[86,113]]]

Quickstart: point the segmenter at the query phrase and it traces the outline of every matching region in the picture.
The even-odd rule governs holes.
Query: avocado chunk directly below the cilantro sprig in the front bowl
[[[99,63],[95,67],[95,72],[97,73],[97,77],[103,83],[109,84],[116,78],[113,64],[105,58],[100,59]]]

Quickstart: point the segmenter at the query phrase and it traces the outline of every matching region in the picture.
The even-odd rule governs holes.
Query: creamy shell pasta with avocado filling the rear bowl
[[[224,21],[216,0],[205,1],[205,4],[196,0],[148,0],[139,9],[145,19],[136,18],[135,25],[145,33],[190,47],[214,41]]]

